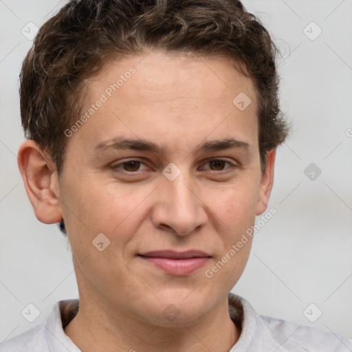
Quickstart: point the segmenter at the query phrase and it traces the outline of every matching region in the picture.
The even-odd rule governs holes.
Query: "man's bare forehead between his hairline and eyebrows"
[[[116,135],[185,148],[210,135],[257,142],[256,90],[225,58],[150,52],[111,61],[85,85],[85,112],[104,102],[77,135],[96,144]]]

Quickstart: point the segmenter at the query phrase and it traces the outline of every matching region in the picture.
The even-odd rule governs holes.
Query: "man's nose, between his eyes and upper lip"
[[[201,189],[191,177],[182,172],[176,179],[162,179],[151,219],[156,228],[185,236],[208,221],[206,204],[201,197]]]

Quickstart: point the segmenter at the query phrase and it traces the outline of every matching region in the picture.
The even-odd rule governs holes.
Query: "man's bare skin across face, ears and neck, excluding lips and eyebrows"
[[[19,150],[36,217],[64,219],[69,236],[80,309],[65,333],[81,351],[229,351],[240,331],[228,293],[251,240],[212,278],[205,272],[267,208],[275,150],[262,173],[256,91],[221,58],[151,52],[88,80],[84,111],[130,67],[135,74],[68,138],[60,180],[33,141]],[[232,103],[240,92],[252,100],[244,111]],[[95,150],[116,137],[148,140],[162,152]],[[229,138],[248,146],[198,151]],[[173,181],[162,173],[170,163],[181,172]],[[36,177],[28,176],[31,167]],[[92,244],[100,233],[110,241],[102,252]],[[152,250],[201,250],[211,258],[191,274],[168,274],[138,255]],[[165,309],[179,315],[171,321]]]

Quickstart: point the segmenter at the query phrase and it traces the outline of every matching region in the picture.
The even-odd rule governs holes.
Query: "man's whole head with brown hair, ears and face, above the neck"
[[[267,209],[288,131],[275,54],[236,0],[69,1],[43,25],[20,76],[19,168],[36,217],[67,232],[81,297],[189,322],[227,296],[252,238],[206,270]],[[170,274],[146,263],[155,250],[208,259]]]

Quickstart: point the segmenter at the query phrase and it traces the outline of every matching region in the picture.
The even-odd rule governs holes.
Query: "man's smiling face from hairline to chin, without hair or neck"
[[[195,320],[239,280],[252,240],[232,245],[270,194],[252,81],[220,58],[151,52],[86,85],[58,191],[81,299],[143,321],[166,325],[167,309]],[[233,102],[241,92],[246,109]]]

